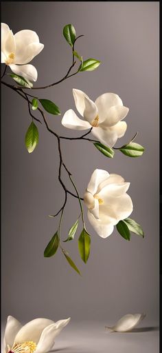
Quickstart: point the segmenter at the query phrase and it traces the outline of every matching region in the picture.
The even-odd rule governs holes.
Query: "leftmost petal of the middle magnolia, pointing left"
[[[76,113],[72,109],[67,110],[61,121],[65,128],[72,130],[87,130],[91,128],[91,125],[84,120],[77,117]]]

